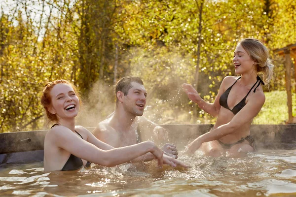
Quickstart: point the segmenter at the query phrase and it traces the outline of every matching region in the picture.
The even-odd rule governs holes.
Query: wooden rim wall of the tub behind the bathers
[[[210,125],[161,125],[169,133],[169,140],[183,150],[188,142],[205,133]],[[88,128],[92,131],[94,128]],[[296,125],[252,125],[251,135],[260,149],[296,149]],[[0,133],[0,164],[43,160],[43,143],[47,131]]]

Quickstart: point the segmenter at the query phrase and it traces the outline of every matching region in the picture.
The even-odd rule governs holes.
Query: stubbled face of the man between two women
[[[146,105],[147,92],[144,85],[136,82],[132,82],[131,85],[132,88],[123,97],[123,107],[125,111],[135,116],[142,116]]]

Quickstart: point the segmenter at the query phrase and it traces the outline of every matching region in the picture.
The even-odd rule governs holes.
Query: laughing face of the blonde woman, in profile
[[[236,46],[232,61],[235,67],[235,73],[237,74],[251,73],[254,71],[255,62],[250,58],[241,44]]]

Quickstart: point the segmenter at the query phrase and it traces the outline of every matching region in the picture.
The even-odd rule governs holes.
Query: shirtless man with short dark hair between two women
[[[124,147],[141,142],[138,129],[153,129],[154,140],[167,138],[167,131],[148,121],[142,116],[146,105],[147,92],[143,81],[139,77],[128,76],[120,79],[115,85],[116,108],[115,111],[104,121],[100,122],[93,134],[101,141],[111,146]],[[145,125],[145,126],[144,126]],[[140,132],[141,137],[147,137]],[[173,144],[165,144],[162,148],[166,155],[178,158],[178,150]],[[139,161],[154,159],[152,154],[146,154]]]

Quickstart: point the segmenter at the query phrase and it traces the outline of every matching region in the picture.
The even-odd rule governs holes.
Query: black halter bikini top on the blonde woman
[[[241,77],[239,77],[237,80],[239,80]],[[237,82],[237,80],[232,84],[232,86]],[[253,85],[253,87],[251,88],[251,90],[256,86],[258,82],[257,87],[254,89],[254,92],[256,92],[256,89],[259,87],[260,83],[262,85],[264,85],[263,81],[261,80],[261,78],[259,76],[257,76],[257,81],[256,83]],[[228,104],[227,104],[227,99],[228,99],[228,95],[230,93],[230,90],[232,88],[232,86],[230,86],[220,97],[219,99],[219,103],[222,107],[229,109]],[[229,109],[234,115],[237,114],[245,105],[246,105],[246,99],[248,97],[248,95],[250,94],[251,90],[248,92],[248,94],[246,95],[246,97],[244,99],[242,99],[237,105],[235,105],[232,109]]]

